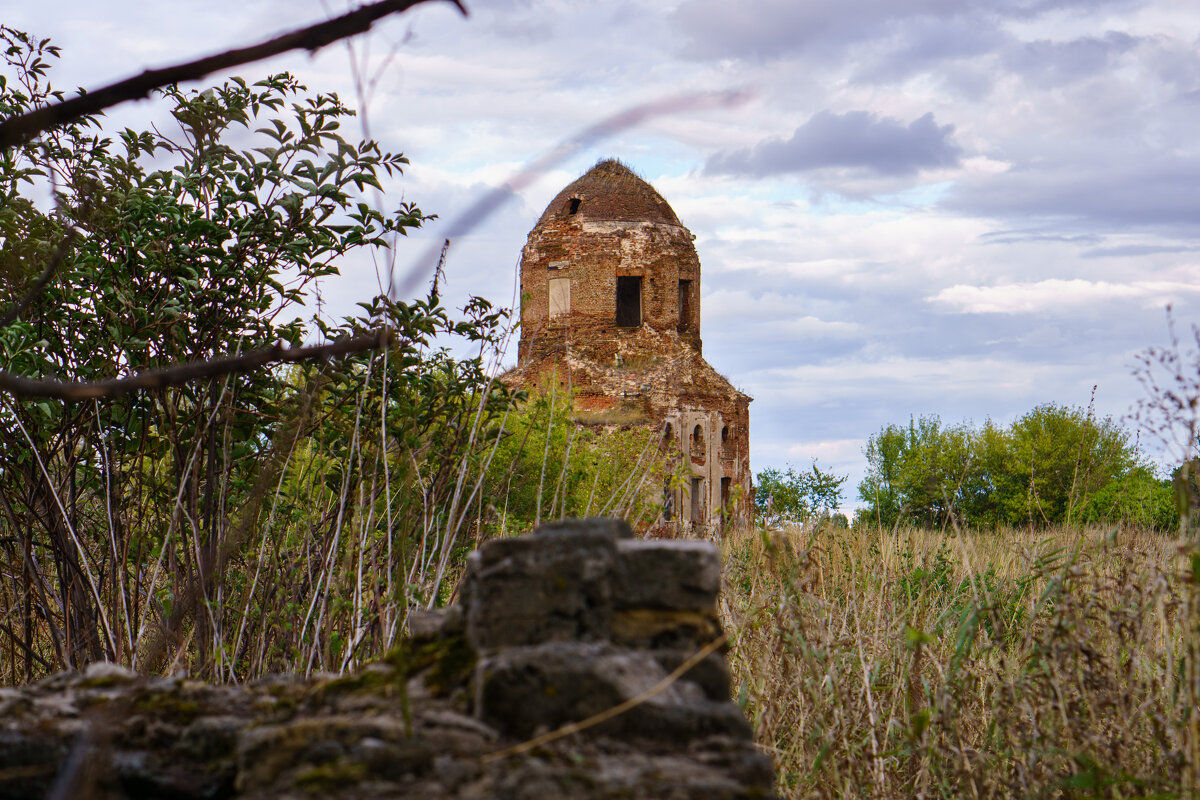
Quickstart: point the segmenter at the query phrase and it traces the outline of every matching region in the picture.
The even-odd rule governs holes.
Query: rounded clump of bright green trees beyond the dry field
[[[859,518],[884,527],[1164,519],[1157,479],[1129,434],[1081,408],[1039,405],[1007,428],[920,417],[884,426],[864,452]]]

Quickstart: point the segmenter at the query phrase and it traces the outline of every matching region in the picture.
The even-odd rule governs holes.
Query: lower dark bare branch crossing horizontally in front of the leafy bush
[[[382,327],[371,333],[354,336],[329,344],[284,348],[274,344],[268,348],[251,350],[245,355],[192,361],[162,369],[150,369],[127,378],[109,378],[92,383],[70,380],[32,379],[13,375],[0,371],[0,392],[8,392],[18,398],[53,397],[64,401],[94,399],[101,397],[119,397],[146,389],[164,389],[179,386],[199,378],[217,378],[232,372],[245,372],[268,363],[294,361],[319,361],[337,359],[354,353],[380,350],[391,341],[391,331]]]

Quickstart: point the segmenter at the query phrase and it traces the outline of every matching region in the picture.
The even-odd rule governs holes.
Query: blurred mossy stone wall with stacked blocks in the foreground
[[[773,796],[710,646],[719,585],[708,543],[544,525],[473,553],[457,602],[354,675],[0,690],[0,798]]]

